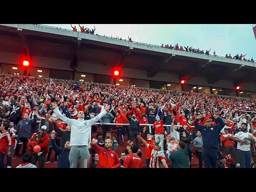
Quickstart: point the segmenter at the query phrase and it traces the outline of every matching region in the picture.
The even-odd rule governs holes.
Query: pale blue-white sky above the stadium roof
[[[72,29],[70,24],[44,24],[64,29]],[[80,31],[78,24],[72,24]],[[253,57],[256,60],[256,40],[252,24],[81,24],[84,28],[92,29],[94,34],[108,37],[121,37],[133,42],[153,45],[179,44],[179,46],[193,46],[200,50],[209,50],[210,54],[216,51],[217,55],[225,57],[230,53],[234,57],[237,53],[247,54],[246,59]]]

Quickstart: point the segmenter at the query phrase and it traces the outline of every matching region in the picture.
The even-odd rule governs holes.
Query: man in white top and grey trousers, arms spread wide
[[[63,122],[72,127],[70,135],[71,150],[69,153],[70,168],[76,168],[79,159],[81,159],[81,167],[87,168],[90,158],[88,145],[89,141],[91,141],[92,125],[107,114],[106,110],[109,110],[109,106],[106,106],[105,110],[102,110],[99,115],[90,120],[84,120],[84,111],[78,112],[77,119],[69,119],[61,115],[57,104],[52,103],[51,107],[54,113],[60,117]]]

